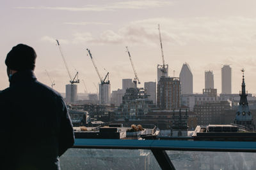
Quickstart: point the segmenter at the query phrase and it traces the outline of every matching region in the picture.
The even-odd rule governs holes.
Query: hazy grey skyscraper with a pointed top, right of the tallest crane
[[[181,94],[193,94],[193,74],[187,63],[180,71]]]

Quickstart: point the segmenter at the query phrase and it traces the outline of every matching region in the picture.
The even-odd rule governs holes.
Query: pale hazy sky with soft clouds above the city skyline
[[[184,62],[193,73],[193,91],[202,93],[204,72],[214,73],[221,93],[221,67],[232,67],[232,93],[241,90],[245,69],[246,90],[256,93],[256,1],[247,0],[1,0],[0,90],[8,87],[4,60],[13,46],[24,43],[36,53],[35,75],[65,92],[69,76],[55,39],[72,76],[79,72],[88,92],[96,92],[99,77],[86,52],[89,48],[100,74],[109,72],[111,90],[122,88],[122,78],[134,78],[125,52],[129,46],[136,72],[143,83],[157,80],[162,63],[157,24],[161,25],[164,60],[169,75],[179,76]],[[78,92],[84,92],[78,85]]]

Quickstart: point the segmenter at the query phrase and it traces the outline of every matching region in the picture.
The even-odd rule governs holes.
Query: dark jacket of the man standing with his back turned
[[[74,144],[74,132],[58,92],[33,71],[17,72],[0,92],[0,113],[0,169],[60,169],[58,157]]]

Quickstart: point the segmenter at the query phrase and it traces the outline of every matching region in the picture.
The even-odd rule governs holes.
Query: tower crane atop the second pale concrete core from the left
[[[99,76],[100,79],[100,104],[104,104],[104,85],[109,85],[110,81],[109,81],[109,72],[106,74],[106,76],[104,78],[102,78],[102,76],[100,76],[99,70],[92,58],[92,53],[90,52],[90,50],[88,48],[86,48],[86,50],[88,51],[90,58],[92,60],[92,64],[95,67],[95,70]],[[108,80],[106,80],[108,77]]]

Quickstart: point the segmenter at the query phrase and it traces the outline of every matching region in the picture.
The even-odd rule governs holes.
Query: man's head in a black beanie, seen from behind
[[[13,46],[5,60],[8,76],[17,71],[34,70],[35,60],[36,52],[32,47],[23,44]]]

